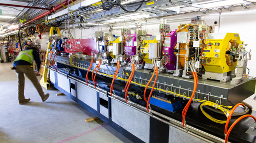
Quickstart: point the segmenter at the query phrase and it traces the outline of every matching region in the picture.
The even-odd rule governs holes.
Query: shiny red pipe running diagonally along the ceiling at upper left
[[[73,2],[75,2],[75,1],[76,1],[76,0],[73,0]],[[71,0],[67,0],[67,1],[63,2],[62,4],[63,4],[64,6],[67,6],[68,4],[72,4],[72,1],[71,1]],[[35,18],[29,20],[28,22],[26,22],[26,23],[20,25],[20,27],[25,26],[25,25],[27,25],[27,24],[29,24],[29,23],[31,23],[31,22],[37,20],[37,19],[42,18],[42,17],[45,17],[46,15],[48,15],[48,14],[50,14],[50,13],[54,13],[55,11],[57,11],[58,9],[61,9],[61,8],[63,8],[63,7],[61,6],[61,4],[59,4],[59,5],[55,6],[54,8],[52,8],[51,10],[49,10],[49,11],[47,11],[47,12],[41,14],[41,15],[38,15],[37,17],[35,17]],[[16,30],[16,29],[17,29],[17,28],[13,28],[12,30]],[[6,31],[6,32],[10,32],[10,30],[9,30],[9,31]]]

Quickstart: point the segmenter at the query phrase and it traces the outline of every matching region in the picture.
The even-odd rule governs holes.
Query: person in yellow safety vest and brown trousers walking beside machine
[[[39,93],[42,102],[46,101],[49,98],[49,94],[46,94],[42,91],[41,85],[38,82],[33,69],[30,67],[33,65],[33,61],[35,60],[37,64],[37,71],[40,69],[41,61],[39,58],[38,49],[32,46],[32,40],[27,40],[27,45],[24,46],[24,50],[20,51],[17,58],[14,60],[13,66],[15,67],[15,72],[18,77],[18,101],[19,104],[24,104],[30,101],[30,98],[25,99],[24,96],[24,86],[25,86],[25,76],[31,80],[34,84],[37,92]]]

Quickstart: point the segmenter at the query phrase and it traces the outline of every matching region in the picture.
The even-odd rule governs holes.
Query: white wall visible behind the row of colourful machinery
[[[166,19],[181,19],[181,18],[188,18],[188,17],[195,17],[201,15],[202,20],[205,20],[206,24],[208,25],[214,25],[214,21],[219,22],[219,13],[217,11],[211,11],[207,14],[202,14],[201,12],[198,13],[191,13],[191,14],[183,14],[183,15],[176,15],[176,16],[170,16],[165,17]],[[256,66],[254,66],[254,61],[256,61],[256,48],[254,48],[254,41],[256,33],[256,30],[254,28],[254,25],[256,25],[256,7],[250,7],[250,9],[242,9],[242,8],[234,8],[233,11],[224,10],[221,13],[221,21],[220,21],[220,33],[239,33],[240,38],[244,43],[248,44],[247,50],[251,49],[252,57],[251,61],[248,62],[248,68],[250,69],[250,75],[256,76]],[[121,19],[119,19],[121,20]],[[123,19],[122,19],[123,20]],[[118,19],[115,19],[113,21],[118,21]],[[147,20],[147,22],[151,21],[160,21],[157,19]],[[139,21],[139,22],[145,22],[145,21]],[[190,20],[186,21],[180,21],[180,22],[168,22],[170,24],[171,30],[175,30],[178,28],[178,23],[189,23]],[[129,23],[130,27],[135,27],[134,23]],[[123,27],[123,24],[115,24],[114,28],[120,28]],[[95,36],[95,31],[98,31],[102,28],[102,31],[108,32],[108,26],[95,26],[91,27],[89,30],[82,30],[81,31],[78,28],[75,28],[74,30],[71,30],[71,33],[75,39],[81,38],[92,38]],[[159,35],[159,24],[151,24],[151,25],[143,25],[142,28],[146,28],[149,34]],[[133,34],[132,30],[132,34]],[[218,26],[216,27],[215,33],[218,33]],[[120,30],[113,30],[113,34],[117,34],[120,36]],[[87,36],[87,37],[85,37]],[[41,47],[44,49],[43,46],[44,43],[46,43],[45,39],[48,39],[46,37],[42,37]],[[254,71],[254,72],[253,72]]]

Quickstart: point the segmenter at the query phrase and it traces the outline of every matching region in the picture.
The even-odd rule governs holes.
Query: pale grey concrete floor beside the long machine
[[[42,102],[26,77],[25,98],[18,104],[17,76],[11,63],[0,64],[0,142],[132,142],[101,120],[86,123],[94,115],[67,96],[50,93]],[[40,77],[38,76],[38,79]]]

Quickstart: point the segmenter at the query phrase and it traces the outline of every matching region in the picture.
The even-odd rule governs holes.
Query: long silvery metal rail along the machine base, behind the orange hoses
[[[53,70],[52,68],[50,68],[50,69],[55,72],[55,70]],[[87,88],[90,88],[90,89],[92,89],[94,91],[100,92],[101,94],[104,94],[104,95],[106,95],[106,93],[110,94],[110,92],[105,91],[103,89],[100,89],[100,88],[95,89],[92,84],[88,84],[87,85],[87,83],[85,81],[82,81],[82,80],[80,80],[80,79],[78,79],[76,77],[70,76],[70,75],[62,73],[60,71],[58,73],[62,74],[64,76],[67,76],[67,78],[72,79],[72,80],[74,80],[74,81],[76,81],[78,83],[81,83],[82,85],[84,85]],[[108,95],[106,95],[106,96],[108,96]],[[123,103],[123,104],[125,104],[127,106],[130,106],[129,104],[126,103],[125,99],[122,98],[122,97],[115,96],[115,95],[113,97],[112,96],[108,96],[108,97],[110,97],[111,99],[116,100],[118,102],[121,102],[121,103]],[[204,132],[202,130],[199,130],[199,129],[197,129],[195,127],[192,127],[192,126],[189,126],[189,125],[186,125],[186,129],[187,129],[186,130],[186,129],[183,128],[182,122],[180,122],[180,121],[177,121],[175,119],[172,119],[170,117],[162,115],[161,113],[159,113],[157,111],[151,110],[151,113],[153,113],[153,114],[155,114],[155,115],[157,115],[157,116],[159,116],[161,118],[164,118],[164,119],[168,120],[169,122],[165,121],[165,120],[163,120],[163,119],[161,119],[159,117],[156,117],[156,116],[151,115],[150,113],[148,113],[146,107],[141,106],[141,105],[139,105],[137,103],[134,103],[134,102],[131,102],[131,101],[128,101],[128,102],[131,104],[132,108],[134,108],[134,109],[136,109],[136,110],[138,110],[138,111],[140,111],[142,113],[145,113],[146,115],[151,116],[152,118],[155,118],[155,119],[157,119],[157,120],[159,120],[159,121],[161,121],[161,122],[163,122],[163,123],[165,123],[165,124],[167,124],[169,126],[172,126],[172,127],[176,128],[176,129],[179,129],[179,130],[181,130],[183,132],[186,132],[186,133],[188,133],[190,135],[193,135],[193,136],[195,136],[195,137],[197,137],[199,139],[202,139],[202,140],[204,140],[206,142],[225,142],[225,139],[222,139],[222,138],[217,137],[215,135],[209,134],[207,132]]]

